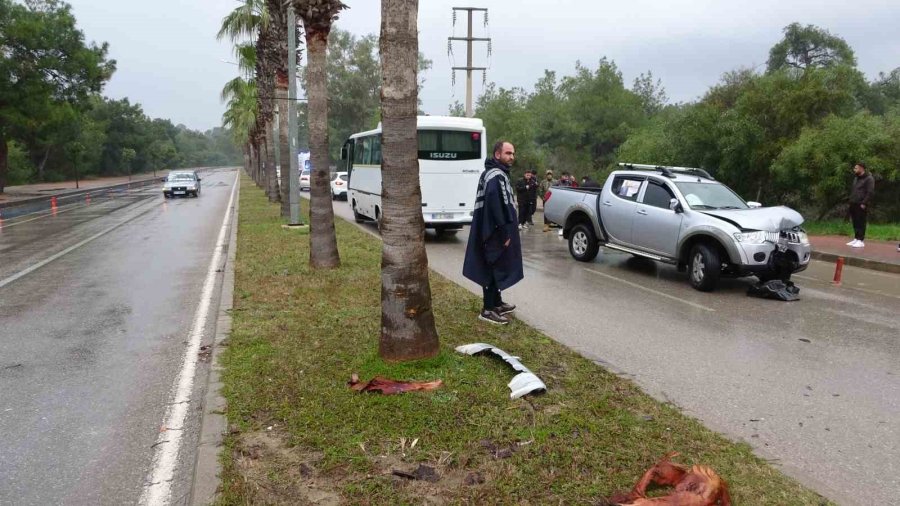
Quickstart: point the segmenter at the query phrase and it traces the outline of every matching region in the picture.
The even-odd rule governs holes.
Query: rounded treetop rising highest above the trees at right
[[[815,25],[791,23],[784,38],[769,50],[768,71],[785,68],[806,70],[832,65],[856,66],[856,57],[847,42]]]

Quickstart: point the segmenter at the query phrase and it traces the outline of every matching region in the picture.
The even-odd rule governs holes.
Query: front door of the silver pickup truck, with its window
[[[678,234],[684,215],[669,209],[675,194],[666,183],[650,178],[635,205],[632,243],[669,258],[677,257]]]

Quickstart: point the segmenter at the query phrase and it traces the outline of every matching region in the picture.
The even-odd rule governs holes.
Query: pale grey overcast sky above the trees
[[[378,0],[344,0],[350,9],[337,26],[358,35],[380,29]],[[89,41],[110,44],[118,70],[106,86],[111,98],[128,97],[151,117],[206,130],[221,124],[222,85],[237,75],[231,44],[217,42],[222,17],[235,0],[70,0]],[[551,10],[545,10],[546,6]],[[691,101],[723,72],[764,65],[769,48],[794,22],[814,24],[843,37],[871,79],[900,66],[900,2],[887,0],[420,0],[419,49],[434,62],[421,99],[429,114],[446,114],[465,101],[465,74],[451,86],[447,37],[451,8],[487,7],[487,30],[475,15],[475,36],[493,39],[488,60],[475,43],[474,66],[489,66],[488,82],[531,90],[544,69],[571,74],[575,62],[596,68],[615,60],[626,83],[651,70],[672,102]],[[459,13],[456,36],[465,36]],[[455,65],[464,66],[464,42],[454,42]],[[474,93],[481,92],[480,73]]]

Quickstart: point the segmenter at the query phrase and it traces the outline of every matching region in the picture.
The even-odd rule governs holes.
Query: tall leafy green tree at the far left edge
[[[86,45],[68,4],[0,0],[0,193],[6,186],[7,142],[41,123],[52,104],[86,106],[115,71],[108,45]]]

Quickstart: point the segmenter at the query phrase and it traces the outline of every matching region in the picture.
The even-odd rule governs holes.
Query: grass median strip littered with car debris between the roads
[[[308,236],[284,231],[248,179],[240,210],[221,504],[603,504],[670,451],[716,469],[735,504],[823,504],[749,446],[525,324],[477,321],[480,300],[437,274],[441,354],[383,363],[379,241],[337,220],[343,265],[313,272]],[[548,392],[511,401],[507,364],[453,349],[473,342],[521,357]],[[354,372],[444,385],[360,394]]]

